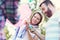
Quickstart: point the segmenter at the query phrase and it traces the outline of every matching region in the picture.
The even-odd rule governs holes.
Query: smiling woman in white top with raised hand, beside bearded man
[[[42,22],[42,15],[39,12],[36,12],[31,17],[30,23],[26,23],[26,27],[28,27],[27,31],[32,36],[30,40],[44,40],[44,35],[41,35],[41,30],[39,30],[39,23]],[[30,30],[30,31],[29,31]]]

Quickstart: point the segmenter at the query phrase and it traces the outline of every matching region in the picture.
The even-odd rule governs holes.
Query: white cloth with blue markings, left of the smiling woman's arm
[[[28,34],[27,34],[27,31],[26,31],[26,26],[25,25],[23,25],[21,27],[18,27],[18,29],[16,29],[16,33],[14,35],[13,40],[28,40]]]

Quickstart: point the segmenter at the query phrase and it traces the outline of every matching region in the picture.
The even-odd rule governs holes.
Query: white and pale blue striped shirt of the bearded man
[[[47,21],[45,40],[59,40],[60,38],[60,13],[55,12]]]

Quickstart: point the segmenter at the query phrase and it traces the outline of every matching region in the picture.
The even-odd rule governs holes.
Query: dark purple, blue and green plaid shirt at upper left
[[[19,0],[0,0],[0,16],[3,15],[5,20],[8,18],[11,23],[15,24],[19,19],[16,11],[18,2]]]

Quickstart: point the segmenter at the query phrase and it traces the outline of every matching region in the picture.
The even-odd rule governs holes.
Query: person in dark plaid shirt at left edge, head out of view
[[[4,27],[6,19],[9,19],[12,24],[19,21],[16,13],[19,0],[0,0],[0,40],[6,40]]]

